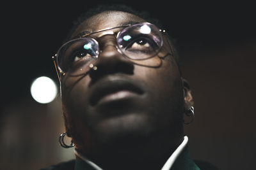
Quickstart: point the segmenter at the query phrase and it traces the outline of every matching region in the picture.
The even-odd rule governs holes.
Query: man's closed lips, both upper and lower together
[[[114,101],[143,93],[140,83],[119,76],[109,76],[93,85],[90,104],[94,106],[99,101]]]

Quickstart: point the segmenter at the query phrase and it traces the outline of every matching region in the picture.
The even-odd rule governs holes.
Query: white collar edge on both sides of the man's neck
[[[172,153],[172,155],[169,157],[169,159],[165,162],[164,166],[162,167],[161,170],[170,170],[171,167],[173,166],[173,163],[177,158],[179,157],[180,153],[184,150],[185,146],[188,144],[188,136],[184,136],[184,139],[182,143],[178,146],[178,148]],[[92,166],[95,170],[103,170],[96,164],[94,164],[92,161],[88,160],[86,157],[81,155],[80,153],[77,152],[77,150],[74,150],[74,153],[77,157],[79,157],[81,160]]]

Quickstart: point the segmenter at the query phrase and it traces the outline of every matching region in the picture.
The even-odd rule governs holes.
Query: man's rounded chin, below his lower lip
[[[145,114],[130,113],[111,117],[92,127],[93,144],[102,148],[138,145],[148,140],[153,129],[153,122]]]

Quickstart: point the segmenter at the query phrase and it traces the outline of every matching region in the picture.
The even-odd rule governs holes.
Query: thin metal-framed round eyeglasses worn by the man
[[[54,64],[65,75],[67,72],[72,75],[87,73],[90,69],[97,69],[94,65],[100,54],[99,43],[96,39],[106,35],[115,34],[114,29],[125,27],[116,34],[116,49],[124,57],[131,60],[144,60],[154,57],[163,46],[161,29],[150,23],[140,23],[112,27],[90,34],[84,34],[81,38],[68,41],[60,47],[54,59]],[[93,35],[98,35],[92,38]],[[58,73],[58,71],[57,71]],[[60,76],[58,74],[60,79]]]

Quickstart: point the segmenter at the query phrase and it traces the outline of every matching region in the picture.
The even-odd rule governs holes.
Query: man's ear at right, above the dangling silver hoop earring
[[[189,83],[186,79],[182,78],[182,85],[183,85],[183,96],[184,96],[184,109],[189,110],[191,106],[194,106],[193,97],[191,94],[191,90],[189,87]]]

